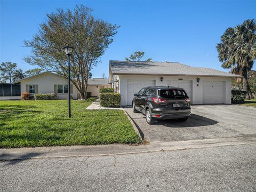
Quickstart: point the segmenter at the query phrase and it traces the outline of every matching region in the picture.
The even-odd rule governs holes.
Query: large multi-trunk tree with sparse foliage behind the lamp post
[[[74,11],[58,9],[46,16],[33,39],[25,41],[25,46],[31,47],[31,55],[24,59],[31,65],[67,77],[67,55],[62,47],[74,46],[70,70],[75,78],[71,81],[85,99],[90,70],[100,62],[119,26],[94,18],[92,9],[84,5],[76,6]]]

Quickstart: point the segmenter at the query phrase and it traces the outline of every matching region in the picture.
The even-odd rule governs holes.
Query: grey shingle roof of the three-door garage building
[[[183,75],[241,77],[205,67],[190,67],[178,62],[109,61],[113,75]]]

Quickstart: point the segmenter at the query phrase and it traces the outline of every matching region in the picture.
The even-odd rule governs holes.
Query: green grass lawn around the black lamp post
[[[0,148],[139,143],[122,110],[85,110],[91,100],[0,101]]]

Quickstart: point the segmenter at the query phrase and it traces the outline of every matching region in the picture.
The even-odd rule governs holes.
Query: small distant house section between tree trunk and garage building
[[[87,82],[87,92],[92,93],[92,97],[99,97],[101,88],[111,88],[111,84],[108,83],[108,79],[104,78],[90,78]]]

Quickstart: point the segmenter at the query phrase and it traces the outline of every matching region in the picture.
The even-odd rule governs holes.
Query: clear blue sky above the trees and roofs
[[[145,59],[153,61],[224,70],[215,49],[220,36],[226,28],[256,18],[256,1],[1,0],[0,62],[16,62],[23,70],[35,68],[23,61],[30,54],[23,41],[37,33],[46,13],[73,9],[76,4],[89,6],[95,17],[121,26],[101,63],[93,68],[93,77],[108,76],[109,60],[124,60],[134,51],[144,51]]]

